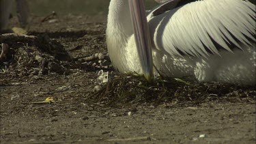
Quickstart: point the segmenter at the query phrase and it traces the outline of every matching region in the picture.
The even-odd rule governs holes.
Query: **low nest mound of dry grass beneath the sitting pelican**
[[[197,83],[188,78],[155,78],[148,83],[139,74],[118,74],[88,100],[107,106],[131,104],[195,105],[205,101],[255,102],[255,87],[225,83]]]

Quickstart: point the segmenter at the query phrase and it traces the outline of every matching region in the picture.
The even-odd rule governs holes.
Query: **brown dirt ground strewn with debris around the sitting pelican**
[[[10,47],[0,63],[1,143],[256,142],[255,87],[181,83],[160,96],[140,90],[119,100],[118,84],[100,100],[98,71],[115,71],[106,54],[106,18],[44,18],[31,20],[28,35],[35,37],[0,39]],[[17,25],[12,18],[10,27]],[[105,65],[87,59],[96,53]],[[48,97],[55,102],[40,103]]]

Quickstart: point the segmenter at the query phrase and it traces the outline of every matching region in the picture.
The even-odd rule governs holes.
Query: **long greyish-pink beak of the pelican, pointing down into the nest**
[[[130,6],[130,16],[132,18],[132,27],[134,30],[134,38],[143,74],[147,81],[151,81],[153,76],[153,58],[150,31],[147,25],[144,3],[143,0],[128,1]]]

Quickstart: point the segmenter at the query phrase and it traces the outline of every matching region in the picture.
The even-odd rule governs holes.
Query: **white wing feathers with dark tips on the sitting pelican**
[[[206,57],[255,42],[255,5],[242,0],[188,3],[149,20],[155,48],[171,55]]]

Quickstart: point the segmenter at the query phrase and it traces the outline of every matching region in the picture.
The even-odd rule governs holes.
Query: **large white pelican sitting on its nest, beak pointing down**
[[[149,81],[159,72],[255,85],[255,18],[246,0],[172,0],[147,14],[143,0],[111,0],[106,44],[119,72]]]

